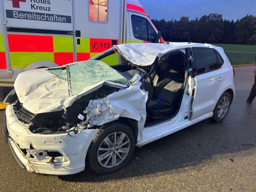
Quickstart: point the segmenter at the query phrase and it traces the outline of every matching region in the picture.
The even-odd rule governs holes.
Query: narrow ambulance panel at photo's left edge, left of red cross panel
[[[8,57],[4,8],[2,2],[0,2],[0,21],[0,78],[6,78],[11,77],[11,73],[8,73],[8,71],[10,71],[10,63]]]

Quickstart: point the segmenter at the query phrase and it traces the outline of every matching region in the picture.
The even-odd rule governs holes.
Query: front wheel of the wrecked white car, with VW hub
[[[101,126],[94,136],[87,151],[86,163],[97,173],[111,173],[121,169],[130,160],[134,147],[135,138],[132,129],[122,122],[111,122]]]

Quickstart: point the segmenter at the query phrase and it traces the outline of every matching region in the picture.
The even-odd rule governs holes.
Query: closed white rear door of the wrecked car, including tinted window
[[[195,88],[191,116],[191,120],[194,120],[213,111],[225,85],[221,69],[223,61],[217,57],[216,51],[202,47],[192,50],[192,66],[196,67],[193,69],[195,77],[191,79]]]

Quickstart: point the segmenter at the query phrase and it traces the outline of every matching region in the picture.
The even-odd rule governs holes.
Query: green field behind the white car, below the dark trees
[[[232,65],[255,64],[256,45],[213,44],[222,47]]]

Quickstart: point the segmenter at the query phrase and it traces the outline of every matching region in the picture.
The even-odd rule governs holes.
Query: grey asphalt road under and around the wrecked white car
[[[111,174],[88,167],[69,176],[28,172],[0,134],[0,191],[256,191],[256,100],[245,101],[254,69],[236,68],[235,100],[222,123],[204,120],[136,148],[129,163]]]

